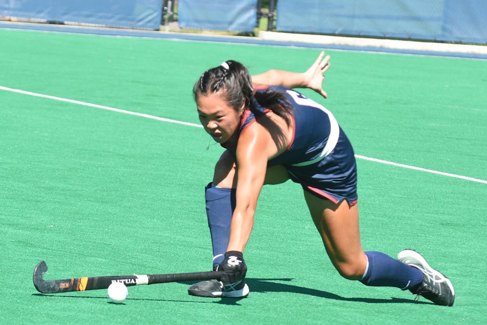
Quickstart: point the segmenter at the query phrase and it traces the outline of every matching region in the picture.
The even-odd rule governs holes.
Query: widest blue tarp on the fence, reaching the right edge
[[[279,0],[278,31],[487,43],[483,0]]]

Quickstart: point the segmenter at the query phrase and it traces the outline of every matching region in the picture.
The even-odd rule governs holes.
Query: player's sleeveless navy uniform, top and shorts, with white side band
[[[282,91],[294,110],[290,112],[292,141],[285,152],[269,160],[268,166],[283,165],[290,178],[300,183],[305,191],[335,203],[345,199],[350,205],[355,204],[355,155],[333,114],[295,90],[277,86],[269,89]],[[268,111],[252,100],[250,107],[244,111],[240,133]]]

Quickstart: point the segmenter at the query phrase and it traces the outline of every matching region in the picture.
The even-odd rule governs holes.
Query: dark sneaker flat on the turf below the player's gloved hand
[[[192,296],[209,297],[209,298],[245,298],[250,292],[244,280],[230,283],[226,286],[218,280],[207,280],[195,283],[187,292]]]

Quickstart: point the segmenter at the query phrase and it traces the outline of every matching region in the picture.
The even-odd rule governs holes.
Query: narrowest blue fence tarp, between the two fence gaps
[[[179,0],[178,21],[183,28],[253,32],[257,0]]]

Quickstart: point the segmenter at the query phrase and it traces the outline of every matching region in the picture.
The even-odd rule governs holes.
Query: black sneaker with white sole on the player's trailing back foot
[[[436,305],[453,306],[455,290],[450,280],[439,271],[431,268],[420,253],[412,249],[405,249],[399,252],[397,259],[423,272],[423,282],[412,291],[413,294],[417,295],[416,300],[419,299],[419,296],[423,296]]]

